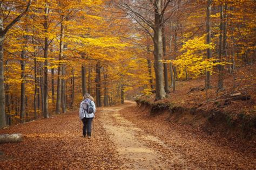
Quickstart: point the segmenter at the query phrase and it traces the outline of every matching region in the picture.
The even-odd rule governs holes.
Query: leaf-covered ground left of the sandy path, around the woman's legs
[[[0,130],[24,135],[22,143],[0,144],[0,169],[118,168],[122,161],[109,135],[97,118],[93,122],[91,139],[82,137],[77,111]]]

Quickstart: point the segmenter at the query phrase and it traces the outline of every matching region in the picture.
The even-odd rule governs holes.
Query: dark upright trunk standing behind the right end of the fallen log
[[[25,115],[25,50],[23,49],[21,52],[21,113],[20,113],[20,122],[24,123],[24,115]]]

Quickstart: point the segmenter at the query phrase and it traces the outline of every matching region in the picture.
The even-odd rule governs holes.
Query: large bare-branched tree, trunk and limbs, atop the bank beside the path
[[[161,100],[165,98],[165,89],[164,89],[164,77],[163,77],[163,63],[161,62],[163,60],[163,24],[166,19],[164,19],[165,11],[170,3],[169,1],[161,1],[156,0],[154,2],[143,2],[144,5],[146,5],[146,8],[141,7],[139,5],[142,4],[129,4],[126,2],[119,3],[119,7],[123,9],[132,19],[134,22],[142,26],[145,31],[150,35],[150,37],[153,40],[154,44],[154,70],[156,74],[156,100]],[[153,9],[154,13],[154,19],[153,22],[151,22],[152,18],[147,18],[145,16],[146,11],[150,11]],[[144,12],[144,13],[143,13]],[[168,17],[166,17],[168,18]],[[146,24],[153,30],[153,35],[146,29],[144,26]]]

